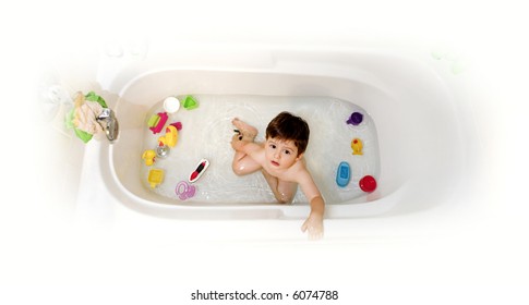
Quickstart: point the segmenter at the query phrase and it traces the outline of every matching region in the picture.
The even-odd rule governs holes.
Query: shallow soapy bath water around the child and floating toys
[[[378,178],[380,157],[376,130],[372,118],[360,107],[332,97],[275,97],[275,96],[221,96],[193,95],[199,101],[199,108],[187,110],[180,108],[169,114],[167,124],[181,122],[178,143],[166,158],[156,158],[153,166],[147,167],[139,156],[141,179],[145,187],[161,196],[173,198],[183,204],[274,204],[276,199],[261,172],[238,176],[231,169],[233,149],[230,142],[235,126],[233,118],[255,126],[259,134],[255,142],[265,141],[265,130],[268,122],[282,111],[289,111],[303,118],[311,131],[309,146],[304,154],[306,167],[311,172],[320,192],[327,204],[339,204],[365,195],[360,190],[359,181],[364,175]],[[157,102],[146,114],[164,112],[164,101]],[[347,124],[352,112],[363,114],[359,125]],[[166,124],[166,125],[167,125]],[[154,149],[158,137],[145,124],[143,150]],[[360,138],[363,142],[363,155],[352,155],[351,141]],[[182,200],[177,192],[181,181],[188,181],[196,169],[200,160],[209,160],[209,167],[203,175],[193,183],[193,197]],[[349,163],[351,179],[347,186],[336,183],[336,173],[341,161]],[[156,187],[151,187],[147,178],[151,169],[161,169],[164,181]],[[301,190],[292,204],[306,204]]]

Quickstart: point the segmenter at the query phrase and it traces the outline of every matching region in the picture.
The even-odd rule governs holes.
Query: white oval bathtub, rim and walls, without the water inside
[[[144,57],[103,54],[97,83],[115,109],[115,144],[85,147],[79,210],[134,211],[165,219],[303,219],[306,204],[184,205],[139,179],[140,135],[154,101],[175,93],[326,96],[354,102],[373,118],[381,173],[375,192],[326,203],[327,219],[371,219],[452,209],[468,199],[476,178],[477,131],[457,76],[429,53],[371,48],[274,46],[180,47]],[[89,187],[87,186],[89,185]],[[103,204],[94,204],[99,203]],[[112,216],[112,217],[113,217]]]

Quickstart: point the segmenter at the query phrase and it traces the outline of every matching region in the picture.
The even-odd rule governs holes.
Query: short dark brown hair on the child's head
[[[293,141],[293,144],[298,147],[298,156],[305,151],[306,145],[309,145],[309,124],[305,120],[287,111],[277,114],[266,127],[266,138]]]

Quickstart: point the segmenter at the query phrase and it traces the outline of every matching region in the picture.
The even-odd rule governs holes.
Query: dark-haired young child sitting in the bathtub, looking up
[[[306,170],[303,152],[309,144],[309,125],[289,112],[281,112],[266,127],[266,142],[255,143],[257,130],[239,119],[233,119],[237,127],[231,139],[233,172],[244,175],[261,170],[276,199],[280,204],[290,203],[298,184],[311,205],[311,213],[301,225],[311,240],[323,236],[323,213],[325,202],[311,173]]]

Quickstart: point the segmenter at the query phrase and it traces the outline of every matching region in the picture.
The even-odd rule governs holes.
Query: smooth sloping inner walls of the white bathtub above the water
[[[399,210],[416,210],[443,202],[460,178],[465,149],[455,105],[444,83],[429,66],[396,57],[359,60],[358,65],[340,71],[346,72],[147,71],[127,82],[119,94],[120,139],[110,147],[115,180],[130,197],[144,204],[176,204],[147,190],[139,179],[143,149],[139,135],[145,129],[145,115],[155,102],[175,93],[321,96],[351,101],[373,118],[382,168],[374,193],[329,205],[399,205]]]

